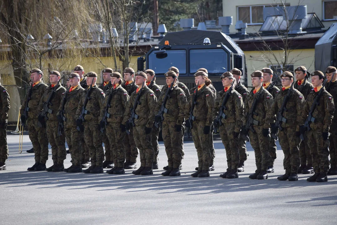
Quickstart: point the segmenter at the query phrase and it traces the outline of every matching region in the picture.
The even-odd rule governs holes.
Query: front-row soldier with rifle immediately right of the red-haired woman
[[[225,118],[221,117],[222,125],[219,126],[214,119],[214,126],[218,126],[220,137],[223,145],[225,146],[227,156],[227,171],[220,175],[221,178],[238,178],[238,164],[240,162],[239,154],[239,135],[243,120],[244,105],[242,96],[234,88],[229,92],[233,84],[236,86],[236,80],[231,72],[225,72],[220,77],[224,89],[218,92],[218,96],[214,103],[212,111],[213,118],[219,114],[224,103],[225,96],[229,95],[227,101],[224,103],[225,110],[223,113]]]

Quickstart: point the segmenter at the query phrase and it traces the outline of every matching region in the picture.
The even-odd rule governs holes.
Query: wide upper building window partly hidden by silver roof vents
[[[273,5],[239,6],[238,20],[242,20],[243,23],[247,23],[248,25],[263,24],[263,8],[276,7],[276,6],[283,6],[283,5],[273,4]],[[286,3],[285,6],[290,6],[290,3]]]

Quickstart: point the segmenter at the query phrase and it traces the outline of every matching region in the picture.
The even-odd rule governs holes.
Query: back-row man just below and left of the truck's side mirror
[[[124,83],[122,87],[128,92],[129,96],[137,89],[137,85],[134,84],[134,70],[132,68],[125,68],[123,71]],[[136,160],[138,156],[138,150],[134,143],[133,127],[130,127],[130,135],[126,135],[124,139],[125,145],[125,169],[137,168]]]

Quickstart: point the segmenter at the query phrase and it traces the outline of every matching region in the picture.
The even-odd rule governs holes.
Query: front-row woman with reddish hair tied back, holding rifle
[[[198,154],[198,171],[191,174],[191,177],[209,177],[208,172],[211,162],[209,134],[212,124],[212,108],[214,106],[214,93],[208,87],[211,80],[208,79],[208,74],[203,71],[198,71],[194,74],[195,84],[197,87],[190,95],[189,101],[185,108],[186,128],[192,128],[192,139],[196,152]],[[190,109],[193,102],[196,102],[192,115],[195,117],[192,124],[188,120]]]

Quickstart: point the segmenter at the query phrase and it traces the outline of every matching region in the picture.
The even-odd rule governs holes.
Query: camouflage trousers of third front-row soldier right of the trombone
[[[69,147],[69,152],[71,156],[72,164],[75,166],[80,166],[82,163],[82,140],[83,134],[78,131],[76,127],[64,125],[65,139],[67,140],[67,145]]]

